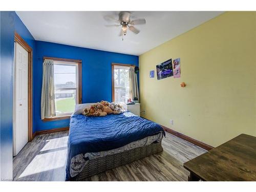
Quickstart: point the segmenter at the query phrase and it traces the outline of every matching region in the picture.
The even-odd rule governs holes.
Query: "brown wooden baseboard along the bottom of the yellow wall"
[[[161,126],[162,126],[162,125],[161,125]],[[207,144],[205,144],[205,143],[203,143],[203,142],[201,142],[201,141],[198,141],[198,140],[196,140],[196,139],[193,139],[193,138],[191,138],[191,137],[188,137],[188,136],[186,136],[186,135],[183,135],[183,134],[181,134],[181,133],[179,133],[179,132],[176,132],[176,131],[174,131],[174,130],[171,130],[171,129],[165,127],[165,126],[162,126],[162,127],[163,127],[164,131],[166,131],[166,132],[168,132],[168,133],[170,133],[170,134],[173,134],[173,135],[175,135],[175,136],[177,136],[177,137],[180,137],[181,139],[184,139],[184,140],[186,140],[186,141],[188,141],[188,142],[190,142],[190,143],[193,143],[193,144],[195,144],[195,145],[197,145],[197,146],[200,146],[200,147],[204,148],[204,149],[207,150],[207,151],[210,151],[210,150],[212,150],[212,148],[214,148],[213,146],[207,145]]]

